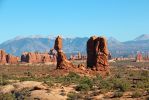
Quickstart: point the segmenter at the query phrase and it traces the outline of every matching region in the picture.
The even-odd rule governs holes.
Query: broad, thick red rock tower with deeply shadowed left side
[[[91,37],[87,42],[87,66],[102,74],[109,73],[107,40]]]

